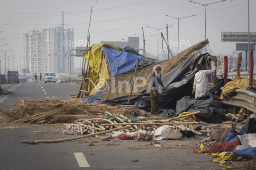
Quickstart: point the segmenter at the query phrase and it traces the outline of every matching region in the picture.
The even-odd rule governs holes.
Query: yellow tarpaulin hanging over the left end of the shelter
[[[90,51],[86,55],[82,56],[84,59],[89,59],[90,79],[94,84],[96,83],[95,84],[96,88],[95,88],[94,85],[91,83],[91,81],[89,81],[88,92],[91,92],[93,90],[93,92],[91,92],[90,95],[96,93],[99,90],[98,87],[102,87],[104,85],[105,81],[97,82],[98,79],[109,78],[107,64],[105,59],[103,59],[102,57],[102,48],[104,46],[108,46],[113,49],[123,51],[111,44],[98,43],[98,44],[91,45]],[[97,83],[100,83],[100,85],[97,86]]]

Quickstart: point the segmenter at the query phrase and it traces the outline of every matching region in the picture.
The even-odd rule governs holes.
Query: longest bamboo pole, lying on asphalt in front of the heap
[[[101,135],[101,134],[106,134],[112,131],[118,131],[121,129],[126,129],[130,128],[131,126],[125,126],[125,127],[119,127],[119,128],[114,128],[111,130],[105,130],[102,132],[97,132],[97,133],[92,133],[89,135],[84,135],[84,136],[78,136],[78,137],[71,137],[71,138],[65,138],[65,139],[58,139],[58,140],[34,140],[34,141],[23,141],[21,144],[40,144],[40,143],[58,143],[58,142],[65,142],[65,141],[72,141],[72,140],[77,140],[77,139],[82,139],[85,137],[91,137],[91,136],[96,136],[96,135]]]

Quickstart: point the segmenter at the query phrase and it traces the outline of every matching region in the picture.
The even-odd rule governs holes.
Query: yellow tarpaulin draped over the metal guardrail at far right
[[[233,94],[237,89],[246,89],[249,86],[249,78],[247,77],[235,77],[231,82],[227,83],[222,92],[219,99],[224,99],[226,97],[229,98],[231,94]],[[255,84],[253,85],[255,87]]]

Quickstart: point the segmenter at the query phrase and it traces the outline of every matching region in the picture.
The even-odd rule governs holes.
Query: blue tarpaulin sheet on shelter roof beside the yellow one
[[[115,50],[107,46],[103,47],[103,51],[109,62],[112,76],[116,76],[120,73],[135,68],[137,64],[137,59],[139,59],[139,64],[142,59],[146,59],[146,57],[136,55],[130,52]]]

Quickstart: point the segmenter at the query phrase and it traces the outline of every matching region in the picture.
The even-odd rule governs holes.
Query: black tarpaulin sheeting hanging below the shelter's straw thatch
[[[208,53],[201,53],[200,51],[193,52],[178,67],[162,77],[163,84],[167,88],[166,93],[160,93],[159,109],[173,109],[176,106],[177,100],[183,96],[187,96],[188,93],[192,93],[193,77],[197,72],[196,64],[201,63],[206,65],[206,54]],[[128,95],[120,96],[102,101],[101,103],[109,105],[127,104],[128,97]],[[145,90],[137,95],[132,95],[130,104],[150,111],[150,94]]]

